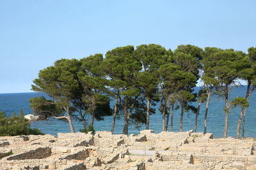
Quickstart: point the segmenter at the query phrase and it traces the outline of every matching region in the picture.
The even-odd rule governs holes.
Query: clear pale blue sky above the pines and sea
[[[255,0],[0,0],[0,93],[31,92],[61,58],[117,46],[256,46]]]

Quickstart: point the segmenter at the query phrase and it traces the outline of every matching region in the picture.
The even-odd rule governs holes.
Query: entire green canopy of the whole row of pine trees
[[[204,88],[193,94],[199,78],[204,81]],[[247,55],[233,49],[202,50],[193,45],[179,45],[174,52],[155,44],[140,45],[136,50],[128,45],[109,50],[105,58],[96,53],[81,60],[57,60],[53,66],[41,70],[32,85],[32,90],[45,92],[51,99],[34,97],[29,102],[35,114],[45,117],[64,116],[65,111],[72,115],[77,111],[78,120],[83,120],[85,126],[86,114],[97,120],[112,115],[111,96],[119,102],[115,104],[116,118],[124,113],[126,126],[132,122],[139,127],[149,122],[148,115],[155,112],[151,107],[154,101],[161,101],[159,110],[163,111],[163,117],[175,103],[179,103],[182,112],[195,112],[191,103],[196,99],[205,102],[212,91],[225,99],[228,113],[229,92],[239,85],[239,79],[248,82],[247,101],[236,97],[230,104],[244,108],[256,88],[256,48],[249,48]],[[93,127],[81,131],[89,130],[94,131]]]

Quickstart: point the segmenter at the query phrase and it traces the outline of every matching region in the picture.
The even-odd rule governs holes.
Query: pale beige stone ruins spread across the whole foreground
[[[256,141],[212,134],[140,131],[138,136],[0,137],[0,169],[256,169]]]

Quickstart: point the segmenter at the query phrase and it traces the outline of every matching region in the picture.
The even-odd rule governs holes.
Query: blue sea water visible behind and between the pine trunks
[[[195,88],[195,92],[198,91],[199,87]],[[246,87],[234,87],[231,94],[230,99],[234,97],[244,97],[246,92]],[[20,110],[23,110],[25,115],[31,114],[32,111],[29,108],[29,98],[31,97],[39,97],[45,96],[42,93],[15,93],[15,94],[0,94],[0,111],[4,111],[7,115],[12,115],[13,112],[19,113]],[[246,120],[245,120],[245,136],[256,138],[256,94],[252,94],[250,97],[250,107],[246,112]],[[113,104],[113,101],[112,103]],[[214,137],[223,136],[223,128],[224,128],[224,101],[221,98],[217,98],[216,96],[211,97],[211,101],[209,104],[209,113],[207,117],[207,132],[212,132]],[[197,103],[195,103],[197,106]],[[162,119],[161,113],[158,111],[159,104],[156,106],[157,113],[154,115],[150,115],[150,129],[153,129],[154,132],[161,132],[162,127]],[[228,120],[228,136],[235,137],[236,136],[236,126],[237,120],[239,118],[240,108],[235,108],[231,110]],[[200,108],[200,114],[198,116],[198,132],[204,131],[204,111],[205,111],[205,103],[202,104]],[[180,110],[176,110],[174,112],[173,118],[173,130],[174,132],[179,131],[179,118],[180,118]],[[88,117],[88,122],[90,122],[90,117]],[[183,131],[189,131],[194,129],[195,123],[195,114],[194,113],[185,113],[183,120]],[[110,131],[112,124],[112,117],[106,117],[103,121],[95,120],[95,129],[96,131]],[[169,123],[170,124],[170,123]],[[37,122],[31,122],[31,127],[38,128],[42,132],[47,134],[56,135],[58,132],[70,132],[69,126],[67,122],[63,122],[61,120],[56,120],[54,118],[50,118],[49,120],[42,120]],[[119,120],[116,120],[115,126],[115,134],[121,134],[122,129],[124,127],[124,118],[120,117]],[[74,120],[74,128],[75,131],[79,131],[82,128],[82,123]],[[145,129],[145,125],[142,125],[140,129],[134,127],[134,125],[129,126],[129,133],[138,134],[140,130]],[[168,127],[170,131],[170,125]]]

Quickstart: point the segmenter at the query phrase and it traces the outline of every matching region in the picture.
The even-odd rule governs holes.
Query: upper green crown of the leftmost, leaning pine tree
[[[77,72],[81,63],[76,59],[61,59],[54,62],[54,66],[42,69],[38,78],[32,85],[32,90],[36,92],[45,92],[51,96],[54,101],[68,105],[68,101],[73,99],[75,92],[79,87],[77,81]]]

